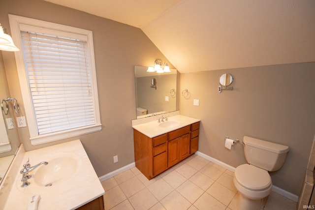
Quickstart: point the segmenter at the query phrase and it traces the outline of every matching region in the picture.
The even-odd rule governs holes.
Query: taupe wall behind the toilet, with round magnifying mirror
[[[233,90],[218,92],[223,73]],[[224,148],[224,137],[245,135],[287,145],[273,184],[299,195],[315,134],[315,62],[181,74],[181,114],[201,120],[199,151],[233,167],[246,163],[241,144]],[[193,106],[199,99],[200,106]]]

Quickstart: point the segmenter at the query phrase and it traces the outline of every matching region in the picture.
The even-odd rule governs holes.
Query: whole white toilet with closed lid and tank
[[[279,170],[289,148],[244,136],[245,158],[249,164],[236,167],[233,182],[240,196],[238,210],[262,210],[272,190],[268,172]]]

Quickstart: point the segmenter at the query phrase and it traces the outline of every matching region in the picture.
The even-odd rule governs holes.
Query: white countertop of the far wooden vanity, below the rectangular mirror
[[[153,120],[150,122],[133,125],[132,128],[136,129],[137,131],[143,133],[144,135],[150,138],[153,138],[153,137],[162,135],[164,133],[176,130],[178,128],[185,127],[189,124],[199,122],[200,120],[189,118],[183,115],[175,115],[175,116],[169,117],[167,121],[176,121],[176,122],[179,122],[179,124],[175,127],[161,127],[159,126],[158,120]]]

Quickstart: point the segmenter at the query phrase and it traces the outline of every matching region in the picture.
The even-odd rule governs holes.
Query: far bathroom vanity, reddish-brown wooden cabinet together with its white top
[[[182,115],[134,125],[135,165],[149,180],[198,150],[199,121]]]

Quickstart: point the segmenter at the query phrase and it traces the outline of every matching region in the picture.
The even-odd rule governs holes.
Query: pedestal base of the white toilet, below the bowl
[[[268,196],[263,199],[252,200],[243,196],[240,193],[237,199],[237,209],[238,210],[263,210],[267,199],[268,199]]]

